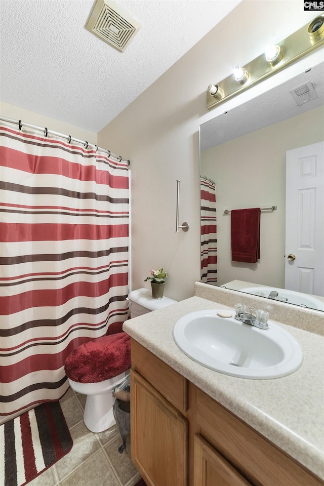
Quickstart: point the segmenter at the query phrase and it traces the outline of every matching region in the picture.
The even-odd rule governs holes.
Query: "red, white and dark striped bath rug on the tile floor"
[[[0,426],[1,486],[23,486],[72,447],[58,401],[42,403]]]

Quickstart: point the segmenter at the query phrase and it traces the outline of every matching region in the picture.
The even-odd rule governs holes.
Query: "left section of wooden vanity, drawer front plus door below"
[[[187,486],[187,380],[132,340],[131,457],[147,486]]]

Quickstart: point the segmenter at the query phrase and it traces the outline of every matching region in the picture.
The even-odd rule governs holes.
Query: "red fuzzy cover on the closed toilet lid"
[[[121,332],[93,339],[74,349],[65,360],[65,373],[77,383],[98,383],[131,368],[131,338]]]

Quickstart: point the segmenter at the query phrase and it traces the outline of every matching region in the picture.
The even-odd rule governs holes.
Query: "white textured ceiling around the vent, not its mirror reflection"
[[[119,0],[142,27],[124,53],[85,25],[94,0],[1,0],[1,100],[98,133],[240,0]]]

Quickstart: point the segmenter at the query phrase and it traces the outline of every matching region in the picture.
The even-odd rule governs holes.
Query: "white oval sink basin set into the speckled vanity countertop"
[[[298,342],[271,320],[264,330],[217,312],[191,312],[176,322],[173,339],[189,358],[225,375],[257,380],[290,375],[301,366]]]

